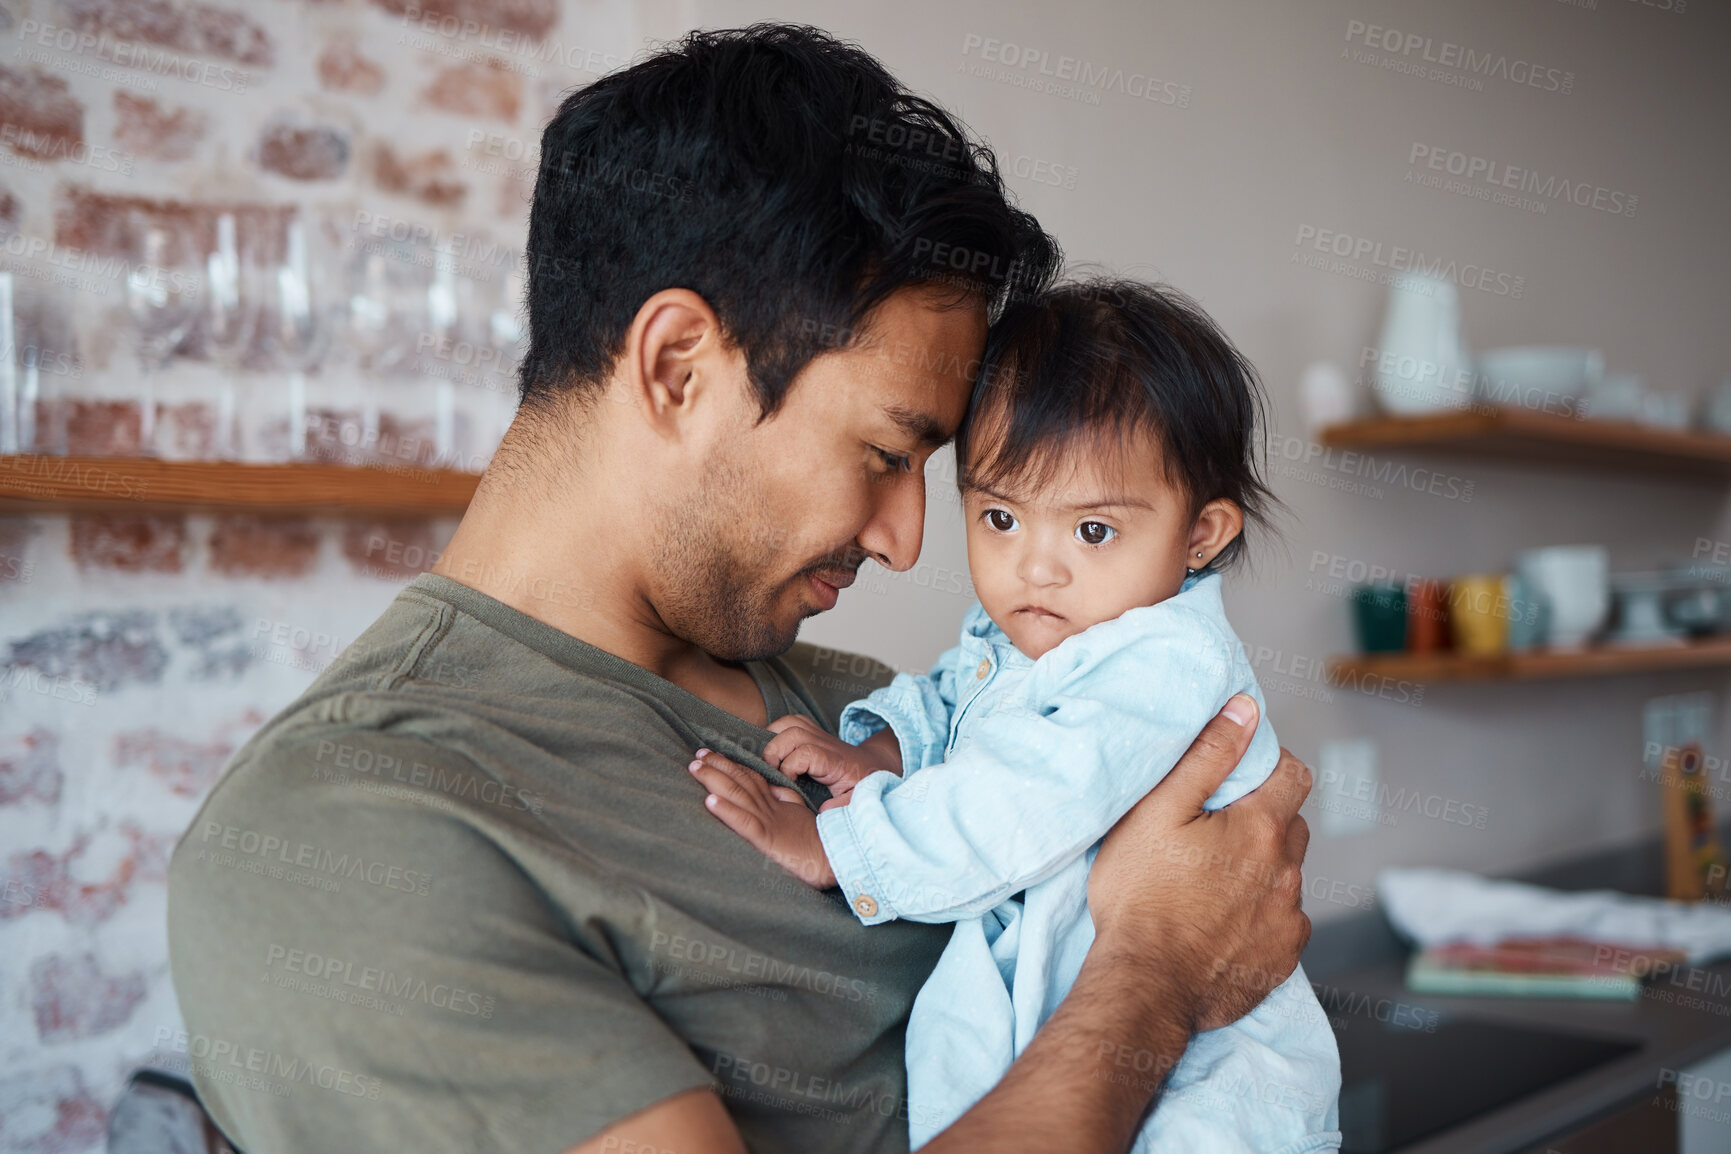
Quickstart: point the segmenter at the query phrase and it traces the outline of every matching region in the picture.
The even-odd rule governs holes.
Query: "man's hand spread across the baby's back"
[[[1241,713],[1234,721],[1231,715]],[[1257,728],[1248,696],[1227,702],[1160,785],[1106,834],[1089,875],[1104,957],[1139,958],[1193,1029],[1238,1021],[1286,981],[1310,939],[1300,908],[1310,830],[1298,806],[1310,770],[1281,751],[1260,787],[1212,813],[1201,803]]]

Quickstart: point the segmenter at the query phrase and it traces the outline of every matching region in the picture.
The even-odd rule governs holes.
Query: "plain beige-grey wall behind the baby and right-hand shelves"
[[[1298,438],[1300,448],[1298,374],[1314,360],[1355,374],[1359,351],[1374,343],[1383,294],[1295,263],[1305,225],[1380,242],[1385,253],[1402,246],[1454,260],[1463,280],[1478,279],[1468,266],[1497,273],[1489,291],[1461,291],[1475,349],[1596,344],[1613,369],[1691,393],[1731,372],[1724,5],[1689,0],[1679,14],[1636,0],[1593,9],[1556,0],[834,0],[640,12],[647,35],[756,19],[829,28],[961,112],[1013,173],[1051,178],[1056,168],[1058,187],[1013,175],[1023,202],[1073,260],[1162,277],[1198,296],[1262,369],[1274,431]],[[1367,52],[1362,35],[1348,42],[1352,21],[1428,36],[1432,55],[1451,42],[1506,57],[1492,67],[1516,76],[1537,66],[1539,83],[1558,90],[1492,76],[1475,92],[1364,62],[1352,55]],[[1153,76],[1168,85],[1156,93],[1174,102],[1113,90],[1089,104],[975,76],[966,66],[980,62],[981,47],[969,48],[969,36],[981,47],[994,38],[1046,52],[1052,69],[1061,55],[1122,67],[1125,87],[1132,74]],[[1416,61],[1425,48],[1411,57],[1374,52]],[[1561,202],[1537,215],[1407,183],[1414,145],[1587,182],[1606,197],[1622,194],[1617,202],[1634,196],[1634,215]],[[1033,161],[1044,164],[1035,170]],[[1298,452],[1293,441],[1279,445]],[[1255,550],[1255,574],[1232,583],[1229,607],[1252,652],[1269,651],[1258,675],[1288,746],[1316,758],[1324,740],[1371,737],[1392,789],[1482,806],[1485,829],[1393,811],[1393,825],[1319,837],[1312,879],[1364,882],[1392,863],[1508,870],[1655,830],[1657,791],[1638,782],[1641,704],[1657,692],[1722,690],[1722,675],[1435,685],[1416,708],[1361,699],[1305,678],[1305,663],[1350,645],[1345,602],[1305,583],[1317,552],[1452,574],[1506,566],[1530,545],[1605,542],[1613,567],[1650,566],[1686,557],[1696,536],[1724,540],[1715,529],[1722,491],[1468,460],[1399,462],[1442,469],[1456,491],[1471,483],[1471,500],[1390,484],[1374,497],[1328,488],[1328,479],[1354,479],[1350,469],[1322,469],[1324,484],[1307,479],[1314,464],[1298,476],[1286,471],[1274,483],[1293,514],[1284,545]],[[966,561],[943,476],[933,484],[924,567],[895,580],[867,567],[864,588],[812,621],[807,638],[898,666],[921,666],[950,644],[968,600],[945,592],[959,587],[954,571]],[[1317,919],[1343,912],[1312,903]]]

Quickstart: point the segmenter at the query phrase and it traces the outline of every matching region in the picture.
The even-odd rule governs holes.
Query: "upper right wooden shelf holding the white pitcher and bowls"
[[[1731,436],[1674,433],[1629,420],[1584,420],[1525,408],[1367,417],[1321,431],[1328,448],[1414,448],[1522,464],[1731,478]]]

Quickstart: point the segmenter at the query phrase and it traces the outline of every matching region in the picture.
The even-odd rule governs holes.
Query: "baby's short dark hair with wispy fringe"
[[[1193,517],[1224,497],[1246,526],[1265,529],[1277,505],[1257,441],[1265,414],[1255,367],[1187,296],[1137,280],[1073,280],[1011,303],[992,325],[956,434],[957,478],[962,490],[1037,488],[1077,439],[1129,443],[1148,433]],[[971,439],[981,458],[969,465]],[[1243,540],[1208,567],[1238,561]]]

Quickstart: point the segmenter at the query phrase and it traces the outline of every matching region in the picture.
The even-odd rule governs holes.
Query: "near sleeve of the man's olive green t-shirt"
[[[364,746],[466,772],[414,739]],[[559,1154],[715,1085],[524,869],[531,817],[317,761],[277,742],[232,768],[170,869],[185,1033],[164,1048],[242,1149]]]

